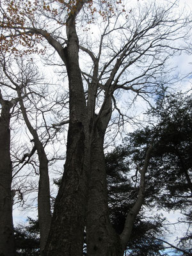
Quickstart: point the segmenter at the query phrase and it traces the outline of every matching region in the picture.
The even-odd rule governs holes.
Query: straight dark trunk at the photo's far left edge
[[[1,95],[0,95],[1,97]],[[15,255],[12,218],[12,161],[10,158],[10,108],[1,98],[0,117],[0,255]]]

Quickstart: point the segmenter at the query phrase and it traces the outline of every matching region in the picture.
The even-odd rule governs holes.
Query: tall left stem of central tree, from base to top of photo
[[[81,8],[81,2],[78,3]],[[67,19],[68,44],[63,51],[51,40],[65,62],[69,84],[70,121],[63,179],[54,205],[45,255],[82,256],[88,191],[89,134],[83,81],[79,68],[76,13]]]

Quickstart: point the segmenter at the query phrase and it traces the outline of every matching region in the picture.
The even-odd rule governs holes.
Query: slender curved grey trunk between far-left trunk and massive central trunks
[[[50,184],[49,184],[49,170],[48,170],[48,160],[45,154],[44,147],[38,138],[38,134],[33,126],[31,125],[26,108],[24,107],[24,102],[22,100],[22,95],[20,94],[20,88],[17,86],[17,94],[19,96],[20,109],[24,117],[24,121],[33,136],[35,148],[37,150],[39,159],[39,173],[40,178],[38,182],[38,221],[40,225],[40,253],[42,255],[45,244],[47,242],[47,237],[49,234],[51,226],[51,205],[50,205]]]

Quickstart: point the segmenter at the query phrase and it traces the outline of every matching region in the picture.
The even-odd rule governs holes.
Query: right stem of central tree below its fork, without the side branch
[[[109,221],[103,136],[93,134],[86,223],[88,256],[120,255],[120,238]]]

